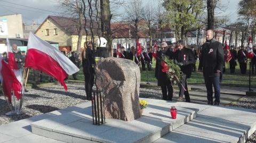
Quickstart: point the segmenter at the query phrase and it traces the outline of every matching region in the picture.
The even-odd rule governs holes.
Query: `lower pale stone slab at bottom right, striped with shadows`
[[[256,130],[255,115],[255,110],[212,106],[154,143],[245,142]]]

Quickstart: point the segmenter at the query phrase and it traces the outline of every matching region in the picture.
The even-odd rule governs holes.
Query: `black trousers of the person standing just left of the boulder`
[[[92,100],[92,87],[94,83],[94,76],[90,73],[84,73],[84,87],[87,100]]]

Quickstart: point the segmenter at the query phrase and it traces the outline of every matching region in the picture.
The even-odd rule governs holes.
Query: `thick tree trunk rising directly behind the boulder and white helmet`
[[[100,12],[101,12],[101,32],[102,36],[106,38],[108,41],[107,43],[107,52],[109,56],[111,56],[111,47],[112,47],[112,40],[111,40],[111,29],[110,29],[110,6],[109,0],[100,0]]]

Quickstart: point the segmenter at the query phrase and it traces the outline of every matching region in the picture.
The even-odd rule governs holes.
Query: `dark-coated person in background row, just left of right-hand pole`
[[[237,53],[237,60],[239,62],[241,74],[246,74],[246,69],[247,69],[247,56],[246,55],[247,55],[246,47],[241,46],[241,49]]]

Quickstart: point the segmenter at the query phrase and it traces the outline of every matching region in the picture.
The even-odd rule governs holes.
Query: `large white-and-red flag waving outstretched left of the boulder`
[[[66,91],[68,88],[63,80],[68,75],[79,71],[66,55],[32,32],[29,33],[25,67],[51,75],[61,83]]]

